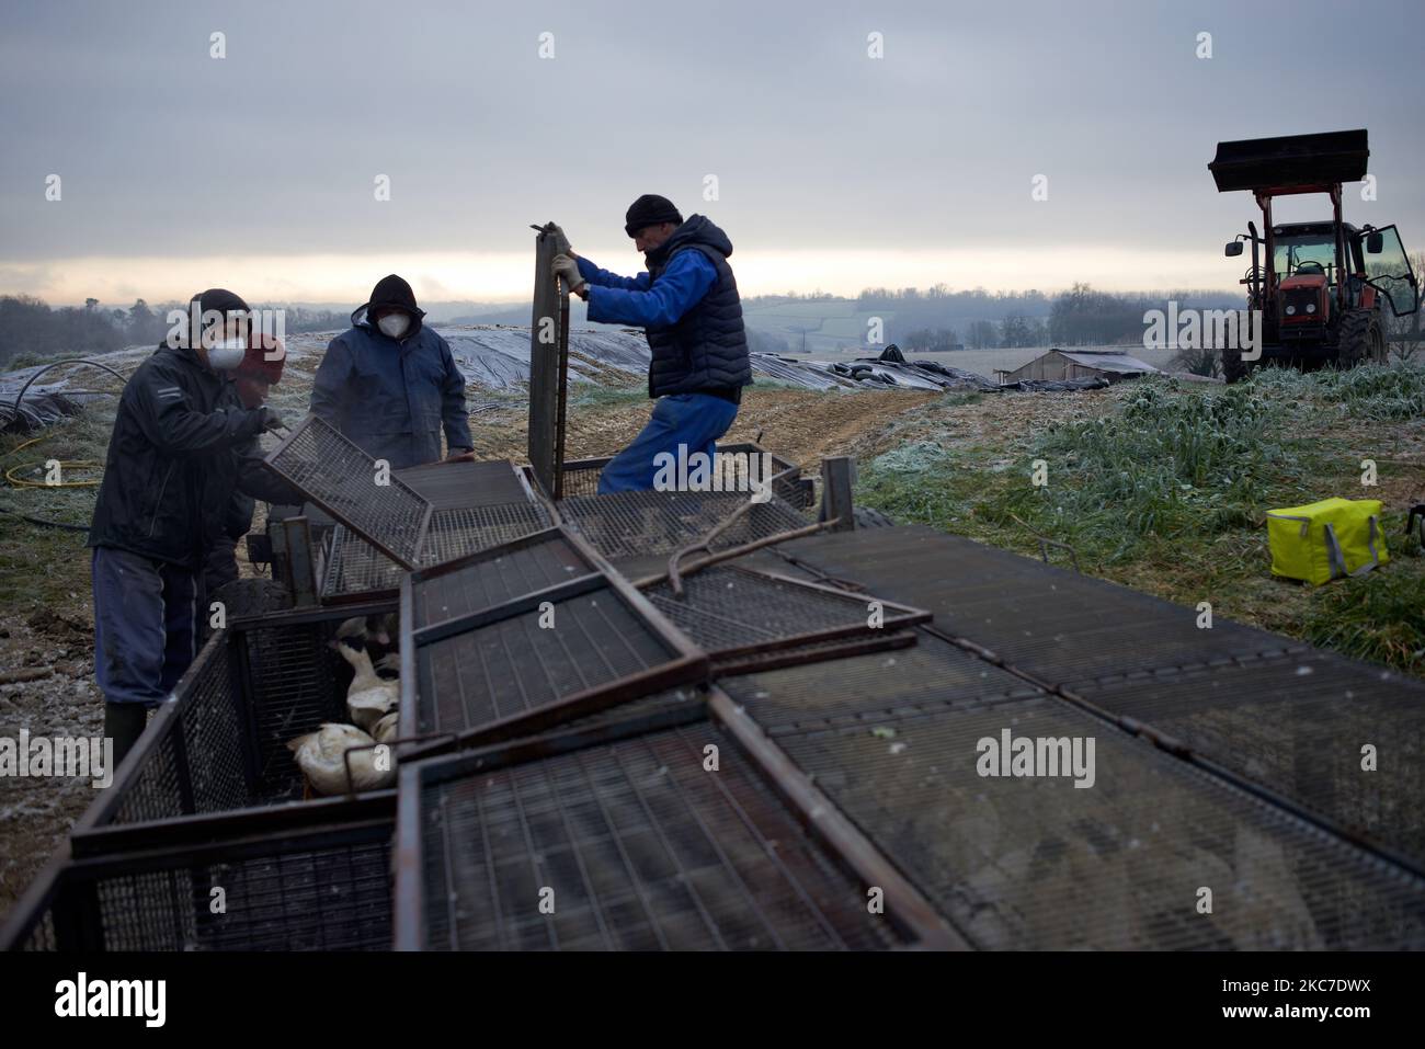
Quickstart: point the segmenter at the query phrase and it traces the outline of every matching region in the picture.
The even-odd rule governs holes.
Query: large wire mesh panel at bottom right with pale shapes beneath
[[[1425,946],[1419,878],[1057,698],[778,744],[978,946]]]

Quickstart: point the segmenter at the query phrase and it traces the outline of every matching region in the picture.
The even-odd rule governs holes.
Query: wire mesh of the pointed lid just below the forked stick
[[[893,630],[929,619],[864,594],[801,583],[731,564],[704,569],[644,591],[668,621],[712,656],[765,651],[814,640]]]

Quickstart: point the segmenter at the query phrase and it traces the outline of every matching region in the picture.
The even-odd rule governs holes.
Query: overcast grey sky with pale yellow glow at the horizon
[[[396,271],[425,299],[512,301],[529,295],[530,222],[636,272],[623,214],[640,192],[722,225],[744,294],[1228,288],[1245,262],[1221,245],[1254,205],[1216,192],[1218,140],[1368,127],[1377,200],[1348,187],[1347,218],[1425,247],[1422,16],[1419,0],[6,0],[0,294],[361,302]],[[1284,217],[1325,214],[1310,200]]]

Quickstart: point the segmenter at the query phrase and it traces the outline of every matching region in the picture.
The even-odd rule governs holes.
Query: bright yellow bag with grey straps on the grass
[[[1322,499],[1267,510],[1271,574],[1328,583],[1385,564],[1379,499]]]

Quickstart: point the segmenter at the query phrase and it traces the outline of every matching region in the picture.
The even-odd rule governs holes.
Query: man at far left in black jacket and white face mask
[[[197,656],[202,564],[234,493],[301,500],[247,453],[282,426],[271,408],[244,408],[228,375],[247,352],[248,305],[209,288],[190,308],[202,319],[177,325],[124,386],[90,524],[94,674],[115,763]]]

